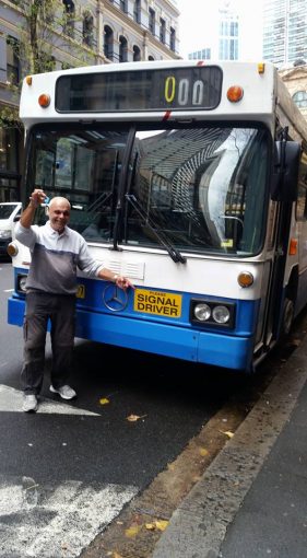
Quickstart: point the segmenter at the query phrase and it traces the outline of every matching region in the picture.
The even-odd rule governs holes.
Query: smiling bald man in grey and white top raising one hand
[[[32,255],[26,281],[24,363],[21,373],[25,412],[35,412],[38,406],[48,319],[52,348],[50,392],[63,399],[76,396],[68,385],[74,339],[76,268],[88,276],[113,281],[120,289],[133,287],[126,277],[117,276],[95,261],[83,236],[69,229],[68,199],[52,198],[49,221],[43,226],[33,225],[35,210],[45,199],[46,194],[35,189],[15,228],[16,240],[27,246]]]

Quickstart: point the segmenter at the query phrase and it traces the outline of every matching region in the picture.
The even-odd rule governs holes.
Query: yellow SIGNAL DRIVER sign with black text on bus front
[[[182,295],[173,292],[134,290],[134,311],[166,317],[181,316]]]

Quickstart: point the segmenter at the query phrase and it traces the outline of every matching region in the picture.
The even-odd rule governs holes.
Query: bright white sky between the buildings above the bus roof
[[[206,47],[212,39],[212,7],[217,0],[176,0],[180,10],[179,54],[187,58],[188,53]],[[262,55],[262,1],[233,0],[241,22],[241,60],[259,60]]]

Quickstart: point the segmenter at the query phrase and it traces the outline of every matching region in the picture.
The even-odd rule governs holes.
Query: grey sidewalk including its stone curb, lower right
[[[175,511],[152,558],[307,557],[307,336]]]

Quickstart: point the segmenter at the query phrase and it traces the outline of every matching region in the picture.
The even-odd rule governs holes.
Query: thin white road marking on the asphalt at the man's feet
[[[12,411],[22,412],[23,393],[14,387],[0,384],[0,412]],[[58,403],[47,397],[39,398],[37,412],[55,415],[91,415],[99,417],[98,412],[92,412],[86,409],[79,409],[66,403]],[[0,555],[1,556],[1,555]]]

